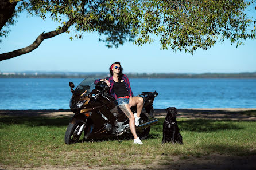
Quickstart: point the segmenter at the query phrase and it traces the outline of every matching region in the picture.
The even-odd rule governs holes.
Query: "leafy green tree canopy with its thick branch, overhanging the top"
[[[0,13],[0,36],[6,37],[6,27],[14,23],[17,13],[26,10],[30,15],[45,19],[51,14],[60,26],[49,33],[42,33],[33,44],[0,54],[0,61],[29,53],[44,39],[61,33],[75,31],[76,38],[84,32],[104,35],[107,47],[118,47],[126,41],[141,46],[160,37],[161,49],[184,50],[192,53],[197,49],[207,50],[216,41],[230,40],[241,45],[245,39],[255,39],[255,18],[247,15],[250,6],[255,10],[255,1],[239,0],[113,0],[113,1],[18,1],[0,0],[13,13]],[[13,7],[14,6],[14,7]],[[7,20],[7,19],[9,20]],[[5,30],[3,30],[4,28]],[[73,39],[73,37],[70,37]]]

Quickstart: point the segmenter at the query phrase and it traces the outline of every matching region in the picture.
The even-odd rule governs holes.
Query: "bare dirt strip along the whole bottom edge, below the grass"
[[[194,156],[157,156],[148,165],[136,164],[136,165],[108,165],[107,167],[101,167],[97,165],[78,165],[78,166],[49,166],[42,167],[11,167],[0,165],[0,169],[179,169],[179,170],[198,170],[198,169],[219,169],[219,170],[253,170],[256,169],[256,155],[251,156],[230,156],[230,155],[205,155],[200,157]]]

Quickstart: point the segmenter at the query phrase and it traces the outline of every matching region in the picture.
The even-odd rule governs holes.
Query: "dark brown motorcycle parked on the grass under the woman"
[[[72,97],[69,102],[70,110],[75,113],[65,132],[65,143],[76,143],[84,132],[84,140],[130,138],[129,119],[117,105],[117,100],[109,94],[109,87],[105,82],[94,84],[94,78],[85,78],[75,90],[73,82],[69,82]],[[150,126],[157,124],[154,118],[155,92],[142,92],[143,112],[140,124],[136,126],[138,137],[143,140],[149,135]],[[137,108],[131,107],[135,113]]]

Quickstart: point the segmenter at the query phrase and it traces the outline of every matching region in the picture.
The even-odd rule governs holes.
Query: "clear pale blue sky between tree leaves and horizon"
[[[11,26],[9,38],[0,44],[0,53],[24,48],[43,31],[55,30],[57,23],[37,17],[20,15]],[[71,31],[72,32],[72,31]],[[75,33],[72,33],[75,37]],[[71,34],[46,39],[33,52],[0,62],[0,72],[68,71],[107,72],[111,63],[121,62],[125,73],[239,73],[256,72],[256,41],[247,40],[236,48],[230,42],[217,43],[211,49],[189,53],[160,50],[157,39],[153,44],[138,47],[128,42],[118,49],[108,49],[98,42],[98,34],[84,33],[83,39],[71,41]]]

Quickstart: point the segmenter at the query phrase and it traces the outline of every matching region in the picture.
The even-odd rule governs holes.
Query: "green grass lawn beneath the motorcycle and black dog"
[[[152,126],[143,145],[133,140],[104,140],[64,143],[69,117],[0,117],[0,165],[41,167],[43,165],[149,165],[173,162],[170,156],[187,160],[211,154],[256,154],[256,122],[178,119],[184,145],[164,144],[162,123]]]

